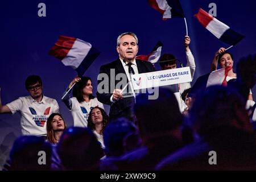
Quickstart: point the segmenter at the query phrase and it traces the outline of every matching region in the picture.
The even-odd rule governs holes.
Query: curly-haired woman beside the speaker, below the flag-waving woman
[[[96,135],[98,142],[101,143],[101,147],[105,148],[103,140],[103,131],[109,122],[109,116],[106,112],[101,109],[101,107],[94,107],[88,118],[88,127],[92,129],[93,133]]]

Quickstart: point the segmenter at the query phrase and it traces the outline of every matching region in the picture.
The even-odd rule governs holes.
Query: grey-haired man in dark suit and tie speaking
[[[127,93],[130,93],[131,97],[126,97],[126,92],[122,90],[126,84],[121,82],[128,83],[131,74],[154,72],[155,68],[150,62],[135,59],[138,53],[138,38],[133,32],[125,32],[118,36],[117,52],[117,60],[100,68],[97,98],[103,104],[110,105],[110,119],[126,117],[135,122],[132,110],[135,102],[133,86],[131,82],[127,86]]]

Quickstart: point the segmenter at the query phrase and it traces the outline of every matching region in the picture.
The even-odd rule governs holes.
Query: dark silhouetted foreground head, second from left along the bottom
[[[97,170],[100,158],[104,156],[92,131],[82,127],[65,130],[57,152],[65,170]]]

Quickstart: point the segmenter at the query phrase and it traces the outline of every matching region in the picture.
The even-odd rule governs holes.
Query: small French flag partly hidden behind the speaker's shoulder
[[[155,47],[152,49],[152,51],[148,55],[139,55],[136,57],[136,59],[143,60],[143,61],[150,61],[150,63],[154,64],[156,63],[162,52],[163,43],[158,41],[156,43]]]

